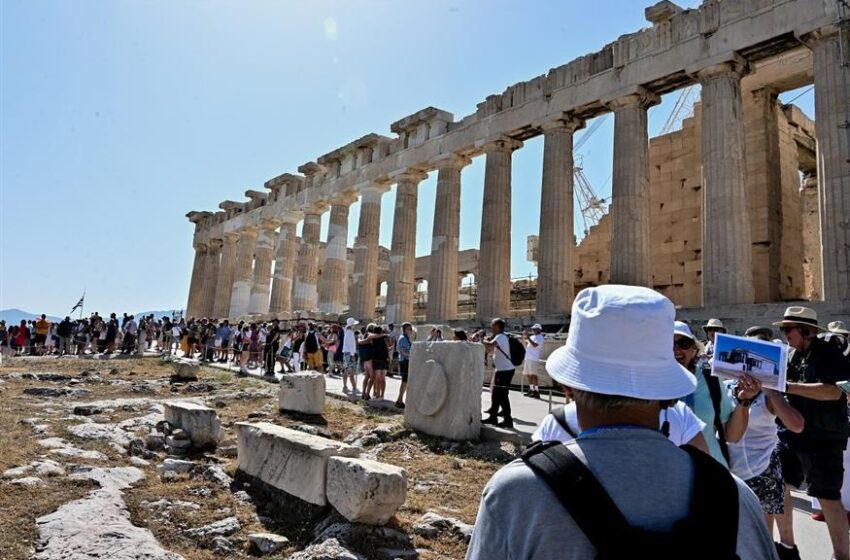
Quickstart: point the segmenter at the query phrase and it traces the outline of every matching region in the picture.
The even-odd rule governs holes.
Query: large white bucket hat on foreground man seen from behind
[[[673,356],[674,317],[672,302],[648,288],[585,288],[573,302],[567,343],[549,356],[546,371],[567,387],[603,395],[689,395],[696,378]]]

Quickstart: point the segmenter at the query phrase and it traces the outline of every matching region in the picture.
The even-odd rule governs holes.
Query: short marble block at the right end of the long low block
[[[368,459],[328,459],[328,502],[354,523],[384,525],[404,504],[404,469]]]

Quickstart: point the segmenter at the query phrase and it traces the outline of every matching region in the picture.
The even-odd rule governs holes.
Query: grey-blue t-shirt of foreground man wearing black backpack
[[[660,432],[604,430],[571,442],[591,472],[632,525],[669,531],[687,516],[693,466],[688,454]],[[775,559],[773,540],[758,499],[738,485],[738,556]],[[593,507],[588,504],[588,507]],[[706,540],[714,538],[706,527]],[[693,543],[695,548],[700,543]],[[682,558],[689,556],[682,551]],[[554,492],[521,460],[506,465],[487,483],[467,560],[587,559],[596,551]]]

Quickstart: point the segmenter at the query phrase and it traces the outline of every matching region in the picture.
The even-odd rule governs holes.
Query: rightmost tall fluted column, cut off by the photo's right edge
[[[834,29],[808,41],[814,54],[823,299],[850,299],[850,66]],[[850,59],[850,48],[844,53]]]

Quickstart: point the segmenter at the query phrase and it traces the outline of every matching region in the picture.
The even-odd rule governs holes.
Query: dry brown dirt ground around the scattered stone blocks
[[[212,543],[187,536],[185,531],[231,516],[239,520],[241,528],[227,536],[233,545],[229,557],[251,553],[247,536],[255,532],[274,532],[290,539],[288,548],[267,558],[285,558],[309,544],[310,520],[270,507],[238,477],[228,487],[199,474],[206,466],[218,465],[235,477],[234,423],[264,421],[345,440],[362,447],[364,456],[405,468],[407,502],[389,527],[409,537],[419,558],[463,558],[466,543],[462,537],[451,531],[426,537],[414,532],[414,526],[426,512],[474,523],[485,483],[518,452],[510,444],[457,444],[423,437],[405,430],[400,414],[335,399],[328,401],[321,417],[284,415],[276,407],[277,386],[267,381],[202,368],[197,381],[173,384],[172,371],[171,364],[156,358],[4,360],[0,368],[0,472],[45,458],[61,463],[68,474],[83,465],[128,466],[131,458],[126,449],[108,440],[77,437],[69,427],[84,422],[134,422],[151,415],[151,407],[162,401],[196,398],[216,408],[221,418],[225,435],[218,449],[184,457],[198,467],[172,480],[163,480],[157,470],[165,452],[147,451],[149,464],[141,467],[145,479],[124,492],[132,523],[150,529],[167,550],[188,560],[221,558]],[[25,394],[27,389],[48,393],[59,389],[66,394]],[[75,407],[87,403],[99,406],[75,413]],[[148,430],[150,427],[141,426],[138,435],[144,437]],[[105,458],[57,454],[39,443],[45,438],[62,438],[73,448],[98,451]],[[139,465],[138,458],[134,459]],[[0,527],[4,528],[0,531],[0,557],[4,560],[29,558],[38,546],[36,518],[96,488],[93,482],[72,480],[67,475],[41,478],[42,484],[37,486],[11,484],[10,476],[0,482]],[[365,541],[352,545],[367,558],[374,554],[374,547],[374,542]]]

